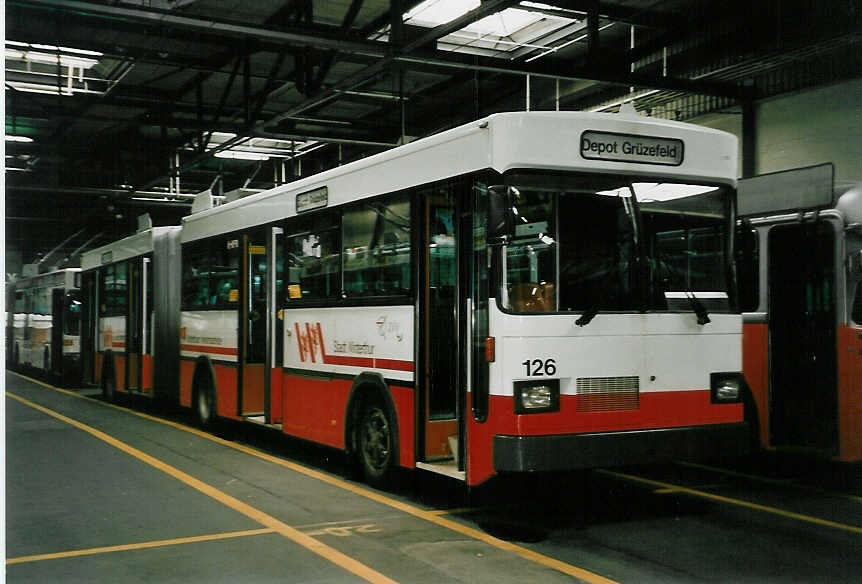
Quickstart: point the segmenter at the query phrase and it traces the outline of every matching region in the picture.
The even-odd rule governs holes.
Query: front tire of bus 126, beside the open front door
[[[395,437],[386,408],[377,401],[366,403],[359,415],[356,455],[365,482],[383,487],[395,468]]]

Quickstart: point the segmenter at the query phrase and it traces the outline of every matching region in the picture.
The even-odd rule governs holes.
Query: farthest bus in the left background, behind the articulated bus
[[[80,380],[81,275],[65,268],[7,282],[6,359],[12,369]]]

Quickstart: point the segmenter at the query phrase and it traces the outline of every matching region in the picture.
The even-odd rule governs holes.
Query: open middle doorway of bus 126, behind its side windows
[[[243,236],[243,274],[240,310],[239,415],[256,422],[265,421],[266,337],[267,337],[267,234],[256,229]]]

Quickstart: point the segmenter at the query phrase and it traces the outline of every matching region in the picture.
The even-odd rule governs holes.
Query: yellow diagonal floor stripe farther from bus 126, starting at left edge
[[[47,414],[49,416],[52,416],[58,420],[66,422],[70,426],[74,426],[75,428],[78,428],[79,430],[83,430],[84,432],[87,432],[91,436],[94,436],[94,437],[98,438],[99,440],[102,440],[103,442],[107,442],[108,444],[110,444],[114,448],[122,450],[123,452],[125,452],[126,454],[129,454],[131,456],[134,456],[138,460],[145,462],[145,463],[149,464],[150,466],[157,468],[158,470],[164,472],[165,474],[168,474],[168,475],[174,477],[175,479],[185,483],[186,485],[192,487],[193,489],[200,491],[204,495],[207,495],[207,496],[215,499],[216,501],[222,503],[223,505],[230,507],[231,509],[233,509],[235,511],[238,511],[239,513],[242,513],[246,517],[249,517],[249,518],[257,521],[261,525],[265,525],[266,527],[269,527],[270,529],[272,529],[276,533],[283,535],[284,537],[291,540],[292,542],[301,545],[302,547],[308,549],[309,551],[314,552],[315,554],[321,556],[322,558],[332,562],[333,564],[335,564],[337,566],[340,566],[341,568],[344,568],[348,572],[351,572],[351,573],[359,576],[360,578],[363,578],[364,580],[366,580],[368,582],[373,582],[375,584],[377,584],[377,583],[392,583],[392,584],[394,584],[394,582],[395,582],[394,580],[387,578],[386,576],[384,576],[380,572],[377,572],[376,570],[369,568],[365,564],[351,558],[350,556],[341,553],[340,551],[336,550],[335,548],[332,548],[332,547],[330,547],[330,546],[328,546],[328,545],[326,545],[320,541],[317,541],[313,537],[309,537],[309,536],[305,535],[301,531],[294,529],[293,527],[290,527],[289,525],[279,521],[275,517],[272,517],[271,515],[267,515],[263,511],[260,511],[259,509],[255,509],[251,505],[243,503],[239,499],[235,499],[234,497],[231,497],[230,495],[223,493],[222,491],[216,489],[215,487],[212,487],[212,486],[206,484],[205,482],[196,479],[195,477],[191,476],[190,474],[187,474],[187,473],[179,470],[178,468],[175,468],[175,467],[173,467],[173,466],[171,466],[165,462],[162,462],[161,460],[159,460],[153,456],[150,456],[149,454],[142,452],[141,450],[138,450],[137,448],[129,446],[128,444],[121,442],[120,440],[117,440],[116,438],[114,438],[113,436],[110,436],[109,434],[105,434],[104,432],[97,430],[96,428],[93,428],[92,426],[88,426],[88,425],[83,424],[77,420],[73,420],[72,418],[64,416],[63,414],[60,414],[60,413],[55,412],[53,410],[50,410],[46,407],[40,406],[37,403],[31,402],[30,400],[24,399],[23,397],[20,397],[18,395],[15,395],[13,393],[8,392],[8,391],[6,392],[6,395],[19,401],[19,402],[21,402],[21,403],[23,403],[23,404],[25,404],[25,405],[30,406],[31,408],[33,408],[35,410],[38,410],[38,411],[40,411],[44,414]]]

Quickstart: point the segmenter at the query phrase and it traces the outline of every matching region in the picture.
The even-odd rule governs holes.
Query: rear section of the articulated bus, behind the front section
[[[179,226],[152,227],[81,255],[83,378],[117,392],[177,401]]]

